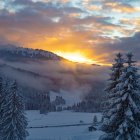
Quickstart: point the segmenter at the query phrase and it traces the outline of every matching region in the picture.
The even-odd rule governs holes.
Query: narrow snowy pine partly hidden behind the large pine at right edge
[[[116,92],[117,92],[117,84],[120,82],[120,75],[122,74],[123,71],[123,63],[124,60],[122,58],[122,54],[118,53],[115,58],[115,63],[113,64],[111,70],[112,73],[110,74],[110,79],[109,79],[109,84],[107,88],[105,89],[107,96],[106,96],[106,101],[104,101],[104,112],[103,112],[103,125],[101,129],[103,131],[111,131],[112,128],[110,125],[108,125],[108,120],[110,119],[110,109],[114,108],[115,106],[112,105],[112,102],[115,101],[116,99]]]

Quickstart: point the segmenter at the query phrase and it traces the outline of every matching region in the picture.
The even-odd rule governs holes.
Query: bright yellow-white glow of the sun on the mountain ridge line
[[[62,56],[65,59],[68,59],[72,62],[78,62],[78,63],[86,63],[86,64],[93,64],[95,61],[92,59],[86,58],[84,55],[82,55],[80,52],[55,52],[57,55]]]

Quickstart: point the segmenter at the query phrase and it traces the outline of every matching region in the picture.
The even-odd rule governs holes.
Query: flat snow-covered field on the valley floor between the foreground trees
[[[89,123],[93,122],[93,116],[97,115],[101,120],[100,113],[76,113],[76,112],[52,112],[40,115],[39,111],[27,111],[29,137],[27,140],[98,140],[101,131],[88,132]],[[65,126],[75,124],[87,124],[80,126]],[[61,127],[59,127],[61,126]],[[62,127],[63,126],[63,127]]]

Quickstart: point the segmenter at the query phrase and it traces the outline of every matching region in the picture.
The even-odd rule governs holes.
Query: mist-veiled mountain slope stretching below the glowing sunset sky
[[[0,76],[16,80],[28,102],[42,92],[76,101],[92,93],[101,96],[105,71],[102,66],[73,63],[49,51],[0,45]]]

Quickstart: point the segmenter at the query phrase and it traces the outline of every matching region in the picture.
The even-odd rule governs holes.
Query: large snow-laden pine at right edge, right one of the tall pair
[[[109,110],[108,136],[113,140],[140,139],[140,86],[138,69],[133,55],[127,54],[127,66],[124,68],[118,83],[116,100]]]

